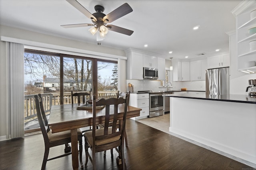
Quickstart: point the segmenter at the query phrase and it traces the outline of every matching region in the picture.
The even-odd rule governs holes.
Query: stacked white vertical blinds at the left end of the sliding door
[[[8,42],[8,134],[24,136],[24,45]]]

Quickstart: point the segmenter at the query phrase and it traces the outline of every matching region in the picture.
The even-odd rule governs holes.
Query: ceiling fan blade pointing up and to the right
[[[121,18],[122,16],[125,16],[126,14],[129,14],[132,12],[132,8],[127,3],[122,4],[118,8],[116,8],[114,11],[110,12],[108,15],[103,17],[103,21],[105,23],[110,23],[114,20],[117,20],[118,18]]]

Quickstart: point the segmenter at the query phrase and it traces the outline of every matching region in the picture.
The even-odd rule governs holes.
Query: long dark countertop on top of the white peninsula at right
[[[206,94],[167,94],[174,98],[191,98],[200,100],[216,100],[224,102],[238,102],[256,104],[256,96],[248,96],[244,94],[226,94],[226,95],[206,95]]]

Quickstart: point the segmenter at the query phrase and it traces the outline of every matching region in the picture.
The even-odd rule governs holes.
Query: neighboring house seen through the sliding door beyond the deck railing
[[[74,79],[64,78],[63,80],[64,91],[77,90],[76,81]],[[78,79],[80,86],[81,80]],[[85,81],[83,80],[83,86]],[[38,88],[43,88],[44,92],[60,91],[60,78],[48,78],[44,76],[43,82],[35,82],[34,86]],[[87,83],[87,89],[85,91],[90,91],[92,88],[91,80]]]

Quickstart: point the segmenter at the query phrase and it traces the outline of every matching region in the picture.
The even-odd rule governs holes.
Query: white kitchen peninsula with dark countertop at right
[[[169,131],[256,168],[256,98],[170,94]]]

